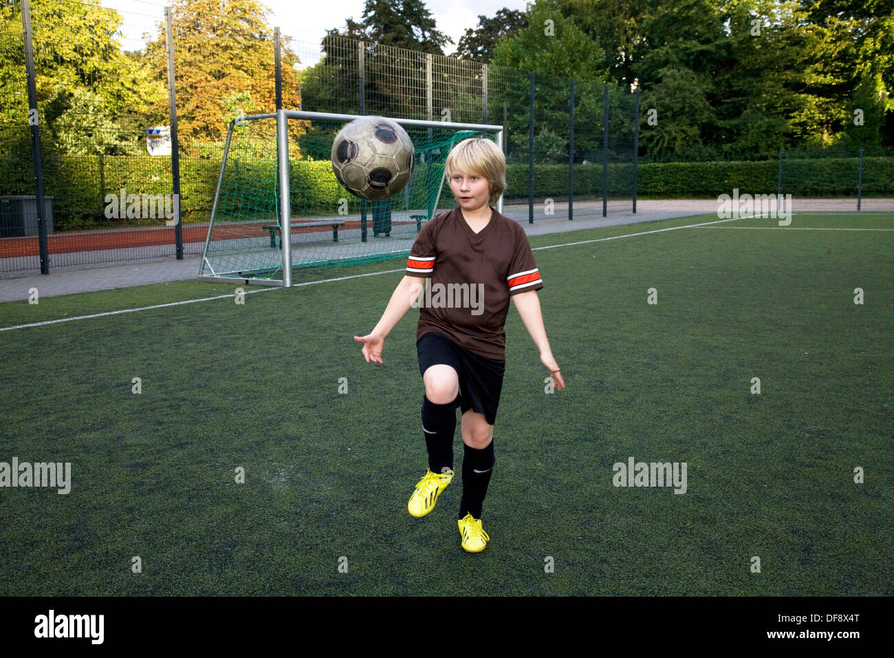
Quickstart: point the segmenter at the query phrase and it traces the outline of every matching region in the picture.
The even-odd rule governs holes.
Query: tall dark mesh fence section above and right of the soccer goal
[[[315,55],[311,44],[299,47]],[[501,124],[506,212],[533,221],[635,209],[631,90],[341,37],[318,48],[320,64],[302,79],[302,109]]]

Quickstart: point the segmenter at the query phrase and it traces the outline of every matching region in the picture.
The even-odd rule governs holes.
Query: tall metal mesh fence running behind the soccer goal
[[[0,272],[200,252],[228,122],[279,107],[501,124],[504,212],[520,221],[635,212],[637,193],[677,189],[667,163],[638,161],[639,132],[653,126],[629,88],[334,36],[316,43],[215,14],[200,21],[217,36],[196,38],[181,8],[139,6],[13,0],[0,9]],[[72,24],[81,26],[73,36]],[[859,165],[856,150],[842,155],[817,171],[836,177],[837,167],[843,195],[856,200],[867,181],[874,193],[890,190],[876,183],[890,170],[876,160],[890,151]],[[817,193],[797,154],[780,162],[785,192]],[[754,173],[742,180],[761,189],[778,173],[775,162],[747,164]],[[854,170],[852,184],[842,167]],[[722,178],[697,193],[719,193]]]

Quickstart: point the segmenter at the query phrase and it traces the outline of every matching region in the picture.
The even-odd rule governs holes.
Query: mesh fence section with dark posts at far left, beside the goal
[[[177,253],[180,226],[159,221],[177,184],[173,158],[146,147],[146,117],[169,123],[164,73],[118,76],[136,62],[120,39],[102,37],[105,26],[125,24],[97,3],[23,0],[3,12],[14,77],[0,100],[0,271]],[[125,20],[149,30],[153,18]]]

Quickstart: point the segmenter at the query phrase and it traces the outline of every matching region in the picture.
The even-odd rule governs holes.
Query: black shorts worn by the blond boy
[[[506,369],[503,359],[489,359],[469,352],[450,338],[429,331],[416,341],[419,355],[419,374],[425,375],[429,367],[446,363],[460,376],[460,396],[457,398],[462,412],[468,409],[485,414],[487,423],[493,425],[500,406],[502,377]]]

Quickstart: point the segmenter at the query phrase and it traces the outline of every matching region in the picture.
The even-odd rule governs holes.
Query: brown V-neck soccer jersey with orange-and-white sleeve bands
[[[426,223],[407,274],[430,279],[417,299],[416,338],[435,331],[491,359],[505,358],[510,296],[544,286],[524,229],[496,210],[478,233],[459,208]]]

